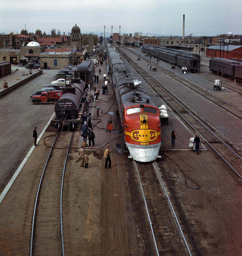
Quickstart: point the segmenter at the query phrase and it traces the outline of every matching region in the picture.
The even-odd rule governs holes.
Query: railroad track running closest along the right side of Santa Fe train
[[[120,49],[121,54],[126,58],[138,74],[152,87],[152,89],[166,102],[175,115],[178,115],[192,129],[193,133],[197,132],[209,147],[211,147],[242,179],[242,158],[228,145],[229,141],[218,131],[210,128],[210,125],[196,116],[188,106],[165,88],[159,81],[154,79],[148,72],[138,66]],[[204,143],[203,142],[203,143]]]

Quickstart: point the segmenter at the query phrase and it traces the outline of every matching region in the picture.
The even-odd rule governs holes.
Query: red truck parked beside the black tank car
[[[39,93],[34,93],[31,98],[33,104],[38,104],[40,102],[53,102],[56,104],[58,99],[62,96],[62,91],[38,91]]]

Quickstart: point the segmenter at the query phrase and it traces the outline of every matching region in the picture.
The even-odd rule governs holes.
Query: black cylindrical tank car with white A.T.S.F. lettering
[[[61,129],[62,126],[72,126],[75,129],[80,123],[78,118],[78,108],[83,98],[85,91],[85,82],[80,78],[71,79],[71,84],[63,87],[62,96],[55,104],[55,119],[51,120],[51,124],[55,125],[56,128]],[[61,109],[66,108],[66,119],[63,122],[61,116]]]

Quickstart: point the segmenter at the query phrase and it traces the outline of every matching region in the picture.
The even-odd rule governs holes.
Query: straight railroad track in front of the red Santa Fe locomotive
[[[192,255],[156,162],[134,162],[157,255]],[[162,216],[162,217],[161,217]],[[189,232],[187,233],[189,234]]]

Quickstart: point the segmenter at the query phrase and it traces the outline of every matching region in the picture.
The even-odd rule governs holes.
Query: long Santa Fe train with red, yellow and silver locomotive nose
[[[159,109],[112,48],[108,48],[108,58],[129,158],[151,162],[160,157]]]

